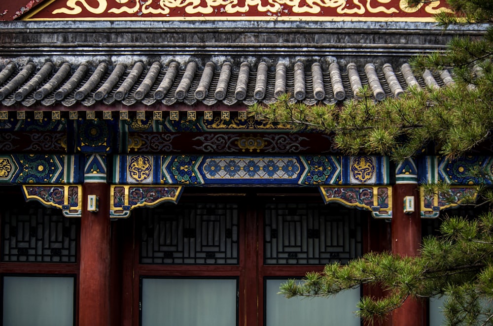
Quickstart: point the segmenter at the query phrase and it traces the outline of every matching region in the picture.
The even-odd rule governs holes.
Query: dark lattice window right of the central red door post
[[[358,211],[310,203],[267,204],[265,264],[326,264],[361,256]]]

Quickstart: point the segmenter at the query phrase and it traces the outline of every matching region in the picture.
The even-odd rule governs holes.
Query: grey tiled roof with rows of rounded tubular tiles
[[[13,61],[0,68],[0,100],[4,107],[19,103],[26,107],[62,104],[67,108],[77,103],[87,107],[121,103],[130,106],[129,109],[139,103],[251,105],[272,103],[282,93],[290,94],[292,101],[313,105],[351,99],[365,84],[370,85],[377,100],[383,100],[398,97],[411,85],[443,87],[453,83],[448,71],[440,74],[425,71],[422,76],[415,76],[408,64],[392,67],[373,63],[223,62],[216,65],[208,62],[200,65],[191,61],[35,65]]]

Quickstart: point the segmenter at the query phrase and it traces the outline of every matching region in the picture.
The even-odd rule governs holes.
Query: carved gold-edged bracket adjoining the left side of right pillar
[[[339,202],[370,211],[375,218],[392,218],[392,187],[320,186],[320,193],[325,203]]]

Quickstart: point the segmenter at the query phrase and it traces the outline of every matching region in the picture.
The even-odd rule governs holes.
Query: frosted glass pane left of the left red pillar
[[[71,325],[73,277],[3,278],[3,326]]]

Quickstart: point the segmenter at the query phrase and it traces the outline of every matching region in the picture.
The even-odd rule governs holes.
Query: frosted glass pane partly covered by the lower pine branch
[[[354,315],[359,289],[329,298],[286,299],[277,294],[285,281],[267,280],[266,326],[360,326],[360,319]]]

